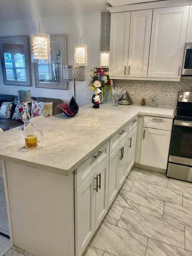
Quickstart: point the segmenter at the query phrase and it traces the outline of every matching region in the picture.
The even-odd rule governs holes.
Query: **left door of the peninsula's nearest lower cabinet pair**
[[[95,232],[95,172],[75,191],[76,256],[82,255]]]

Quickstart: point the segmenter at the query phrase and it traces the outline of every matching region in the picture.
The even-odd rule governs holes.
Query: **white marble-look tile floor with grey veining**
[[[192,183],[133,168],[82,256],[192,256]]]

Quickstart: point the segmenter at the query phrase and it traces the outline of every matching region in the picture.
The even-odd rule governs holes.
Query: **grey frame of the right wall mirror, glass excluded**
[[[64,65],[67,65],[67,36],[66,35],[50,35],[50,42],[51,41],[60,42],[61,64],[62,64],[62,67]],[[68,90],[68,82],[63,80],[63,74],[62,74],[62,82],[56,84],[56,83],[49,83],[49,82],[39,82],[38,63],[34,63],[34,71],[35,71],[35,87]]]

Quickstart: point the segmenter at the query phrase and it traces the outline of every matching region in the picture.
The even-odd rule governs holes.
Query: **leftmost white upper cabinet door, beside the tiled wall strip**
[[[111,14],[110,76],[127,76],[130,12]]]

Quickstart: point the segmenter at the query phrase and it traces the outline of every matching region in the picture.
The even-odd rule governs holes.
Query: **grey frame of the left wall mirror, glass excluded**
[[[11,81],[7,80],[6,77],[6,67],[4,61],[4,52],[3,52],[3,44],[17,44],[18,42],[23,43],[24,55],[25,55],[25,70],[26,70],[26,79],[27,81]],[[30,72],[30,63],[29,63],[29,46],[28,46],[28,36],[1,36],[0,37],[0,57],[1,57],[1,65],[3,72],[3,80],[4,84],[8,85],[19,85],[19,86],[32,86],[31,84],[31,72]]]

